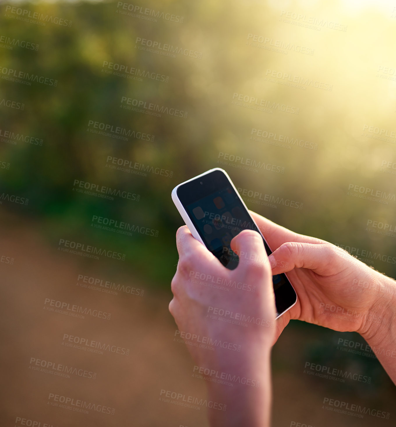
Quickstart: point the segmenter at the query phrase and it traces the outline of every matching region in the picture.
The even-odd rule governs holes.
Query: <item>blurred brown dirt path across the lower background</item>
[[[204,407],[189,409],[159,400],[161,390],[205,397],[203,381],[192,377],[194,364],[185,346],[174,342],[168,294],[137,283],[123,272],[121,263],[109,267],[58,251],[38,225],[5,215],[2,223],[7,225],[0,246],[2,426],[21,425],[15,422],[17,417],[54,427],[207,425]],[[99,291],[89,289],[89,284],[82,287],[81,276],[144,290],[144,295],[122,290],[113,295],[98,284]],[[61,302],[51,306],[51,300]],[[61,303],[65,308],[56,313],[56,304]],[[87,309],[80,314],[84,318],[71,316],[77,313],[73,305]],[[106,313],[106,319],[95,310]],[[302,339],[301,332],[286,330],[274,357],[292,349],[298,352]],[[97,342],[105,348],[98,350]],[[123,354],[128,349],[129,354]],[[65,365],[73,368],[66,374],[69,378],[54,374],[64,374]],[[96,378],[90,378],[95,373]],[[300,373],[275,369],[274,426],[290,426],[292,421],[315,427],[377,425],[378,419],[372,417],[361,420],[325,411],[321,400],[326,385],[321,392],[312,385]],[[73,400],[63,408],[65,398]],[[77,412],[82,405],[90,407],[88,413]],[[391,425],[380,421],[378,425]]]

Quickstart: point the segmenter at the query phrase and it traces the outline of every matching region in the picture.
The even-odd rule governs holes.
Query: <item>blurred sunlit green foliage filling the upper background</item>
[[[39,49],[0,48],[0,66],[58,80],[54,87],[0,79],[0,98],[25,104],[23,111],[0,105],[1,129],[43,140],[42,146],[1,143],[1,161],[11,165],[0,170],[2,191],[30,200],[27,207],[4,202],[4,209],[37,220],[54,247],[62,237],[126,253],[125,267],[136,276],[169,287],[177,263],[174,233],[183,224],[171,202],[171,189],[222,166],[218,160],[223,152],[285,168],[284,173],[265,168],[255,173],[235,164],[222,166],[236,187],[303,203],[303,209],[294,209],[247,202],[252,210],[335,244],[394,253],[396,240],[369,233],[366,222],[392,223],[396,203],[347,195],[349,184],[395,191],[394,176],[380,171],[382,160],[396,160],[394,145],[361,135],[365,124],[392,129],[394,122],[394,102],[388,95],[393,82],[375,76],[383,58],[391,61],[394,56],[395,30],[389,19],[376,10],[365,9],[358,16],[340,12],[340,3],[316,6],[318,16],[334,15],[339,8],[337,19],[348,24],[348,31],[315,32],[281,22],[280,9],[269,4],[136,4],[183,16],[183,23],[121,15],[118,2],[18,3],[16,7],[32,13],[72,21],[71,27],[50,22],[40,26],[15,19],[17,14],[7,17],[7,5],[1,6],[1,35],[39,44]],[[387,35],[381,47],[366,33],[368,25],[381,27]],[[249,34],[301,44],[314,54],[253,47]],[[137,37],[197,51],[202,58],[139,50]],[[169,76],[169,81],[140,82],[109,74],[104,61]],[[268,70],[317,79],[333,85],[333,90],[276,84],[268,80]],[[295,106],[299,114],[242,108],[232,104],[234,93]],[[128,111],[120,108],[122,97],[187,111],[188,117]],[[93,134],[90,120],[155,138],[120,141]],[[307,140],[318,149],[257,142],[251,139],[252,128]],[[107,156],[173,171],[173,176],[111,170],[106,168]],[[109,201],[79,194],[73,191],[74,180],[128,190],[141,198]],[[93,215],[152,228],[159,235],[126,237],[98,230],[90,226]],[[395,276],[393,263],[374,260],[372,265]]]

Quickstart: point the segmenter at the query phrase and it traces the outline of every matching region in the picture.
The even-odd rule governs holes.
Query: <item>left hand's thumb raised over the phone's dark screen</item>
[[[237,269],[240,272],[254,272],[257,269],[257,273],[261,275],[263,272],[265,275],[272,275],[263,237],[257,231],[241,231],[231,240],[231,249],[239,257]]]

